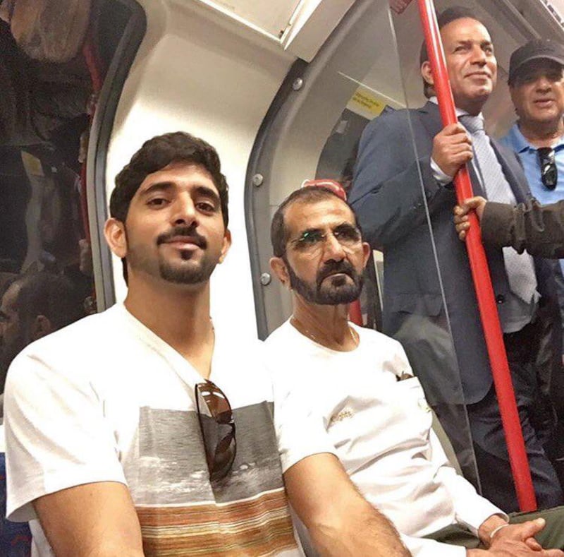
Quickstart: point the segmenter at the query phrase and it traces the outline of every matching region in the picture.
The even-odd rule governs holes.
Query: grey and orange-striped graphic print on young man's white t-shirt
[[[197,414],[140,409],[139,457],[131,468],[123,464],[145,556],[262,556],[296,548],[271,402],[235,408],[233,418],[233,467],[210,483]]]

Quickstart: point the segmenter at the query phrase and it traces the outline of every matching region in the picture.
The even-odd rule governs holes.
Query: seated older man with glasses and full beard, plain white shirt
[[[399,342],[348,321],[369,245],[341,193],[302,188],[272,221],[271,268],[293,299],[293,315],[265,341],[275,402],[299,407],[307,397],[326,442],[412,555],[563,556],[533,539],[544,535],[546,546],[562,548],[561,526],[553,537],[544,520],[522,517],[523,524],[509,525],[502,510],[456,474]],[[544,517],[561,524],[564,509]]]

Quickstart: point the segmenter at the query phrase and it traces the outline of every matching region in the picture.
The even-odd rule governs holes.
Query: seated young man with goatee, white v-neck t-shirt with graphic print
[[[227,198],[211,145],[147,141],[104,229],[125,302],[13,361],[8,516],[31,521],[34,556],[298,556],[282,477],[321,551],[408,554],[305,412],[281,405],[273,420],[256,347],[214,330]]]

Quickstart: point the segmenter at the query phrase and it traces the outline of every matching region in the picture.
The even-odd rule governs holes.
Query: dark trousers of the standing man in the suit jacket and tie
[[[538,327],[538,323],[531,323],[517,333],[504,335],[504,341],[537,504],[546,509],[562,505],[564,495],[546,454],[555,424],[533,363]],[[494,386],[480,402],[468,405],[467,412],[482,494],[506,513],[519,510]]]

